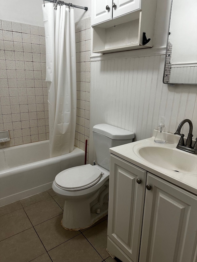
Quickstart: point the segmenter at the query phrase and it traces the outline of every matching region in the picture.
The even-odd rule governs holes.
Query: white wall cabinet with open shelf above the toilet
[[[111,53],[152,47],[156,3],[157,0],[93,0],[92,51]]]

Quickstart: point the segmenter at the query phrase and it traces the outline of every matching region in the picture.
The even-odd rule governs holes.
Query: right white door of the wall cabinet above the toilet
[[[140,9],[140,0],[113,0],[113,18]]]

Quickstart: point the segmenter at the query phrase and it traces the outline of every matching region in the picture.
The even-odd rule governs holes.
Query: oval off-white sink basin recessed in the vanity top
[[[145,161],[160,168],[197,175],[197,156],[176,148],[145,146],[138,148],[137,154]]]

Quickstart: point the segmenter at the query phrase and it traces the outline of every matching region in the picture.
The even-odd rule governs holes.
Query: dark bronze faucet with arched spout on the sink
[[[186,122],[189,124],[190,129],[189,129],[189,134],[187,136],[186,143],[184,143],[184,134],[181,134],[181,128],[183,127],[183,125]],[[183,150],[183,151],[190,152],[192,154],[197,154],[197,138],[196,138],[196,142],[195,142],[194,146],[192,147],[192,137],[193,137],[192,131],[193,131],[193,125],[192,125],[191,120],[190,119],[184,119],[179,124],[179,126],[177,128],[177,131],[175,132],[175,135],[180,135],[181,136],[181,138],[179,140],[179,143],[178,143],[176,148],[178,148],[180,150]]]

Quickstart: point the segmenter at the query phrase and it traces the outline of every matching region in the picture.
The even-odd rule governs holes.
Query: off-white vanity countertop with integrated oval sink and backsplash
[[[176,148],[180,136],[166,132],[166,143],[159,144],[155,134],[156,130],[150,138],[112,147],[110,153],[197,195],[197,155]]]

